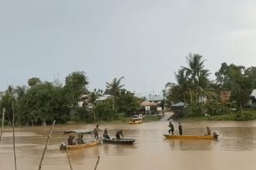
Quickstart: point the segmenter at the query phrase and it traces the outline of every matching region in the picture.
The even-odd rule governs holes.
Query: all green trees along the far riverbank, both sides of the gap
[[[222,63],[215,73],[216,80],[209,80],[202,56],[189,54],[186,59],[188,66],[181,66],[175,73],[177,83],[166,83],[162,90],[161,106],[171,107],[183,101],[186,106],[178,118],[190,120],[256,120],[255,110],[248,105],[249,100],[256,103],[250,97],[256,89],[256,67]],[[11,124],[13,111],[19,125],[50,124],[53,120],[57,124],[126,122],[134,113],[140,113],[143,99],[126,90],[121,84],[123,79],[122,76],[107,82],[105,90],[89,91],[85,72],[67,75],[64,85],[58,80],[48,82],[32,77],[27,87],[9,86],[0,93],[0,109],[5,108],[5,124]],[[226,100],[220,98],[223,91],[230,94]],[[144,121],[160,118],[146,116]]]

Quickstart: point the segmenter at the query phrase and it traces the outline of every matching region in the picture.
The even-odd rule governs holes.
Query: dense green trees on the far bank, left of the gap
[[[43,82],[37,77],[28,80],[29,87],[8,87],[2,94],[0,108],[5,108],[5,123],[11,124],[14,112],[16,124],[64,124],[67,121],[112,121],[140,108],[140,99],[134,93],[122,89],[116,78],[106,83],[109,98],[99,100],[103,90],[87,88],[84,72],[74,72],[61,83]],[[87,98],[83,98],[83,96]],[[78,103],[81,102],[81,105]]]

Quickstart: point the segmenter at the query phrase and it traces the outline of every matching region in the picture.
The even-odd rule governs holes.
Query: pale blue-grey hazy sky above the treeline
[[[256,1],[0,0],[0,91],[27,80],[88,89],[116,77],[127,90],[161,93],[197,53],[214,79],[221,63],[256,65]]]

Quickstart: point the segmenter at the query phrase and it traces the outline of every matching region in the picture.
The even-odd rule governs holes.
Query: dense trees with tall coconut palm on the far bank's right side
[[[203,115],[230,114],[234,110],[250,107],[251,92],[256,87],[256,67],[228,65],[222,63],[220,70],[215,73],[216,80],[209,80],[209,70],[205,69],[199,54],[189,54],[186,57],[188,66],[181,66],[175,73],[177,83],[167,83],[167,103],[184,101],[186,104],[183,114],[185,117]],[[230,91],[230,100],[223,103],[220,100],[221,91]],[[255,99],[254,99],[255,100]],[[246,120],[242,112],[236,120]],[[248,114],[249,115],[249,114]]]

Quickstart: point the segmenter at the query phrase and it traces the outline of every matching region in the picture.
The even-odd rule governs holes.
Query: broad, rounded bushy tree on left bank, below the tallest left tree
[[[64,123],[69,118],[69,108],[61,87],[44,82],[29,88],[19,100],[19,115],[23,124],[51,122]]]

